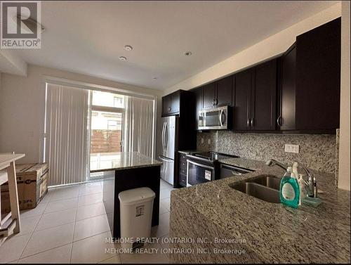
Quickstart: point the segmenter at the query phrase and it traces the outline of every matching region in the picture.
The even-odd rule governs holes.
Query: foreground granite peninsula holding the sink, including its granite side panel
[[[171,192],[169,237],[187,240],[170,247],[189,252],[170,254],[171,263],[350,262],[350,191],[336,188],[333,174],[312,171],[323,202],[293,209],[232,188],[260,175],[281,178],[283,169],[242,158],[220,162],[256,171]]]

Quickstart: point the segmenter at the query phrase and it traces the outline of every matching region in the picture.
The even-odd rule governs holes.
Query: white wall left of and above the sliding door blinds
[[[161,91],[158,90],[35,65],[29,65],[27,77],[2,73],[0,86],[0,153],[12,151],[25,153],[26,156],[20,162],[39,162],[41,158],[45,109],[44,79],[46,76],[157,96],[159,106],[157,117],[161,117]]]

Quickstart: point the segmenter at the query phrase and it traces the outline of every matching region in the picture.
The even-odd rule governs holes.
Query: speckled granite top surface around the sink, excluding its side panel
[[[282,177],[283,169],[242,158],[220,162],[256,172],[173,190],[171,196],[220,226],[229,237],[245,239],[262,261],[350,262],[350,191],[333,186],[333,174],[311,171],[323,202],[317,208],[293,209],[231,188],[262,174]]]

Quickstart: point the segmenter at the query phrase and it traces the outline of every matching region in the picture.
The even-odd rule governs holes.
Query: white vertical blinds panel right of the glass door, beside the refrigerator
[[[154,156],[154,101],[126,97],[124,151]]]

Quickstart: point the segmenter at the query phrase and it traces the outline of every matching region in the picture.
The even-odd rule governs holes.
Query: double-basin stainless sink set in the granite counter
[[[231,188],[246,193],[265,202],[280,203],[280,179],[271,175],[260,175],[255,179],[233,183]]]

